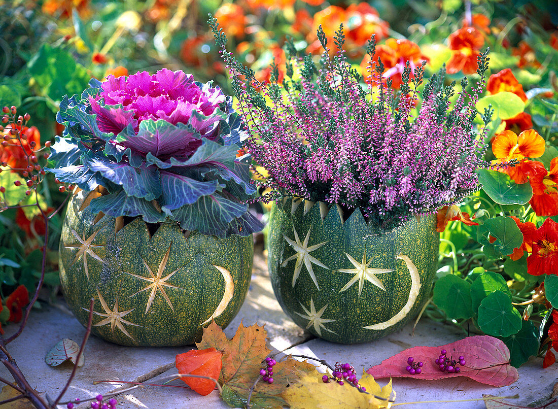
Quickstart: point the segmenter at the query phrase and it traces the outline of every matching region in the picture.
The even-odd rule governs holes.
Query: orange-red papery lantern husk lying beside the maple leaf
[[[221,373],[222,353],[215,348],[191,349],[184,354],[176,355],[176,368],[181,375],[199,375],[217,380]],[[196,377],[181,377],[182,381],[200,395],[205,396],[215,389],[215,382],[211,379]]]

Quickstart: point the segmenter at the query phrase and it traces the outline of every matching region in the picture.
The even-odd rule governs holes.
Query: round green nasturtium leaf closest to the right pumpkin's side
[[[463,278],[448,275],[436,281],[433,301],[444,310],[449,319],[473,317],[471,285]]]

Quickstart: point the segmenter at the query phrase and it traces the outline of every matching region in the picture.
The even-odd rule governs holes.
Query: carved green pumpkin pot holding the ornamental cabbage
[[[150,237],[141,218],[122,227],[122,218],[92,214],[97,195],[73,196],[60,240],[60,281],[82,325],[92,298],[93,334],[121,345],[187,345],[212,317],[223,328],[230,323],[250,284],[251,236],[186,238],[167,219]]]

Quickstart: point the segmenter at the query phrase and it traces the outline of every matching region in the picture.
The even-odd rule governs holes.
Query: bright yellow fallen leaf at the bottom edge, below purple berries
[[[348,383],[340,385],[335,382],[324,383],[319,374],[305,374],[300,381],[291,385],[282,393],[282,397],[291,409],[331,409],[350,407],[353,409],[378,409],[391,407],[388,401],[392,393],[391,381],[383,388],[374,381],[374,377],[364,374],[360,386],[369,393],[359,392]],[[394,392],[395,394],[395,392]],[[385,398],[380,400],[374,395]]]

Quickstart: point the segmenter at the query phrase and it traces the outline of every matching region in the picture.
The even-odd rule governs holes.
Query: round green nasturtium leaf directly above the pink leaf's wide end
[[[494,291],[479,307],[479,328],[487,335],[511,336],[521,330],[521,314],[513,305],[509,295]]]

